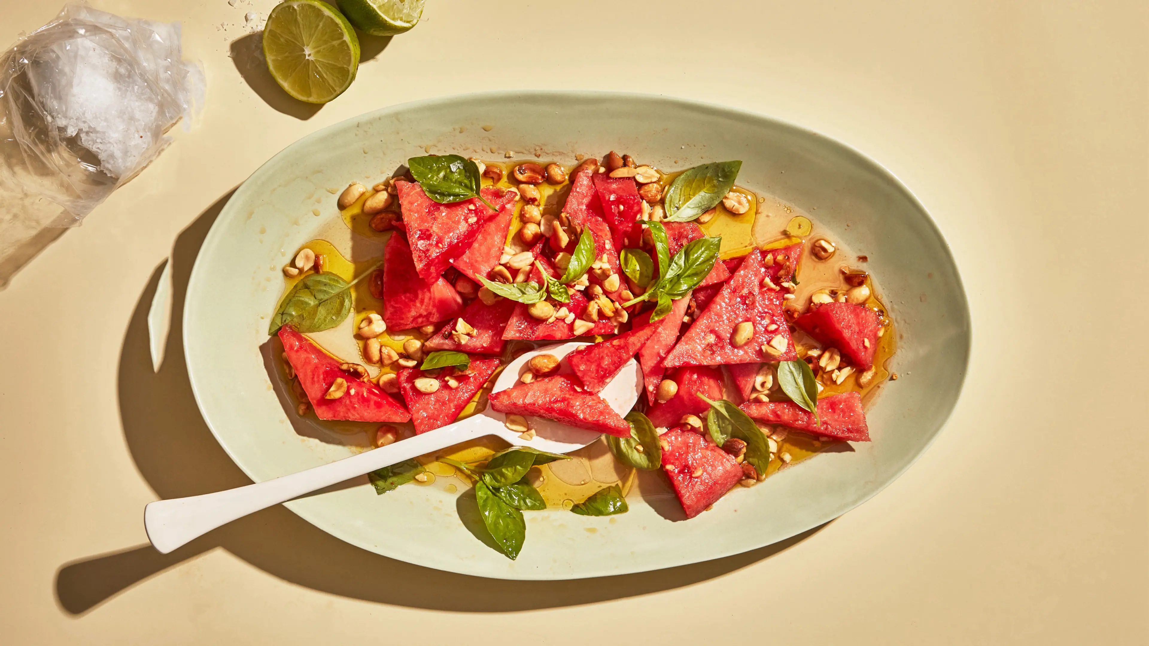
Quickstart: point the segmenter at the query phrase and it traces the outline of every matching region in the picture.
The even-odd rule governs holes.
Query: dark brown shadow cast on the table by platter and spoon
[[[231,192],[208,207],[176,240],[170,260],[171,330],[159,372],[152,367],[147,315],[162,266],[140,294],[121,351],[117,385],[124,436],[140,474],[164,499],[252,482],[224,453],[200,415],[183,349],[183,303],[192,266],[230,197]],[[284,580],[341,597],[437,610],[531,610],[649,594],[719,577],[768,559],[824,526],[742,554],[663,570],[571,580],[504,580],[388,559],[344,543],[276,506],[170,554],[139,545],[63,563],[56,571],[55,592],[64,610],[80,615],[169,568],[223,548]],[[396,586],[395,580],[419,580],[422,585]]]

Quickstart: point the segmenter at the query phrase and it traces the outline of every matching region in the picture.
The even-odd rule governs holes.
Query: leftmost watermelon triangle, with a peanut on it
[[[323,352],[291,325],[279,329],[279,340],[284,344],[287,362],[295,370],[299,384],[321,420],[406,422],[411,418],[410,413],[383,389],[339,368],[342,361]],[[347,382],[347,392],[339,399],[326,399],[324,395],[339,377]]]

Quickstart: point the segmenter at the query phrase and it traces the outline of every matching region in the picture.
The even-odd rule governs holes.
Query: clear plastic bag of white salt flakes
[[[0,59],[0,285],[48,228],[75,226],[170,143],[203,103],[203,72],[183,61],[179,24],[83,5]]]

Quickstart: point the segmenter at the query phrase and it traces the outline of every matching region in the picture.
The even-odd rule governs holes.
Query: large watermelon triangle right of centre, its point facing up
[[[666,367],[757,363],[765,354],[762,346],[779,336],[786,341],[785,351],[771,359],[797,359],[781,308],[781,293],[763,287],[763,275],[761,252],[754,249],[670,351],[664,360]],[[731,336],[743,321],[754,324],[754,336],[742,346],[734,346]]]

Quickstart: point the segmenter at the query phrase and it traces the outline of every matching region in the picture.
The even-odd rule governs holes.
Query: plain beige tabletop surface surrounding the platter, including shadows
[[[272,5],[95,2],[182,22],[208,101],[0,292],[0,641],[1149,643],[1147,353],[1131,339],[1149,314],[1144,2],[430,0],[317,111],[229,56],[245,14]],[[0,1],[0,44],[57,8]],[[154,553],[146,502],[247,482],[200,420],[178,346],[151,371],[163,259],[175,247],[178,298],[228,193],[308,132],[517,87],[748,108],[886,164],[946,232],[973,312],[940,439],[801,540],[614,579],[423,570],[283,508]]]

